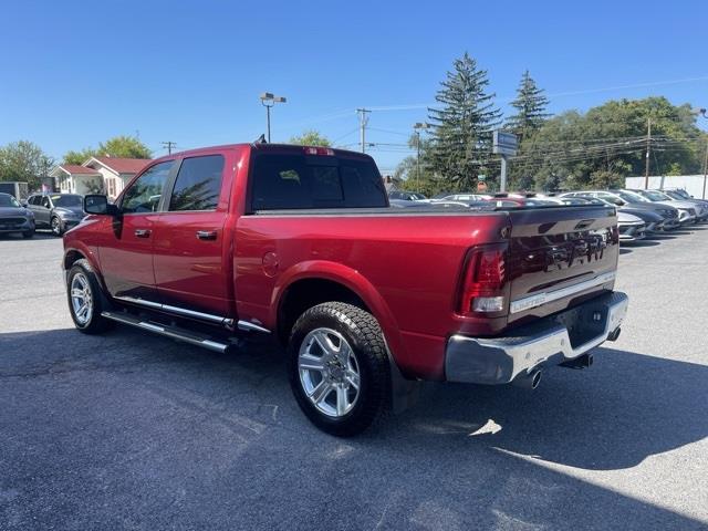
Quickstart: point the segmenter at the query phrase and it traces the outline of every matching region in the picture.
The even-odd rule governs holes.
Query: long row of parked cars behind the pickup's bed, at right
[[[439,194],[431,199],[418,192],[392,191],[394,207],[465,206],[471,209],[544,207],[602,202],[617,208],[622,241],[635,241],[646,235],[669,231],[708,220],[708,200],[695,199],[686,190],[577,190],[553,194]]]

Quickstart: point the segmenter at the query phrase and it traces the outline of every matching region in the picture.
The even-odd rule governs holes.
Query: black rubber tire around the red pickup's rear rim
[[[357,397],[351,410],[339,417],[327,416],[317,409],[309,398],[300,375],[301,346],[308,334],[319,329],[335,331],[346,340],[358,369]],[[388,409],[391,366],[386,344],[376,319],[360,308],[326,302],[305,311],[292,329],[288,362],[290,385],[300,408],[323,431],[339,437],[361,434]]]

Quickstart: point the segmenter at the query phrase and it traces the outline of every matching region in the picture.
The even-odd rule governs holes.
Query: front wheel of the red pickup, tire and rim
[[[98,334],[108,329],[112,322],[101,315],[106,310],[106,299],[87,260],[77,260],[69,271],[66,295],[71,317],[80,332]]]

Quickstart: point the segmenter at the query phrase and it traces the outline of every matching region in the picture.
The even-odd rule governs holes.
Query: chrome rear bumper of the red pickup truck
[[[628,299],[612,292],[510,331],[512,336],[452,335],[445,354],[448,382],[507,384],[546,365],[574,360],[612,336]]]

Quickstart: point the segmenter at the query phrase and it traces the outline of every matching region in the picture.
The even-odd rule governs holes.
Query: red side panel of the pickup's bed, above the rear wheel
[[[503,215],[243,216],[236,235],[236,293],[257,319],[274,327],[283,290],[304,278],[337,281],[357,293],[379,321],[402,368],[441,376],[444,339],[451,331],[503,323],[455,315],[459,271],[467,250],[500,239]],[[263,273],[262,257],[278,256],[280,274]],[[239,309],[239,314],[244,315]],[[438,337],[406,346],[402,333]],[[421,352],[424,351],[424,352]],[[428,355],[430,354],[430,355]]]

